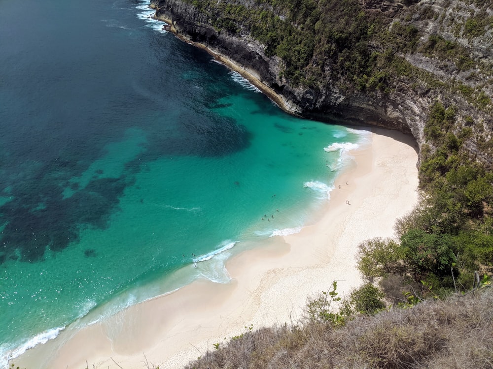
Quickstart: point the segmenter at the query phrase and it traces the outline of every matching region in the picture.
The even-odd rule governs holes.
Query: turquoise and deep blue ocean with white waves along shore
[[[0,1],[0,367],[315,222],[364,131],[284,113],[138,0]],[[88,319],[88,317],[90,317]]]

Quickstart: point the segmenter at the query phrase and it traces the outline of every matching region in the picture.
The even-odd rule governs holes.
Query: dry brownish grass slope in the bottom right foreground
[[[493,291],[359,316],[340,329],[261,328],[186,368],[493,368]]]

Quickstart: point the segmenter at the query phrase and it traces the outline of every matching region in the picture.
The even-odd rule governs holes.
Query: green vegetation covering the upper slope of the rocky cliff
[[[425,1],[409,7],[395,3],[387,12],[377,5],[392,1],[367,1],[367,7],[356,0],[186,1],[206,13],[216,31],[246,33],[264,44],[266,55],[276,55],[284,62],[281,76],[291,85],[320,88],[331,80],[343,89],[388,93],[402,77],[416,73],[429,87],[440,84],[440,78],[406,61],[417,53],[438,60],[445,70],[470,70],[475,82],[480,82],[474,76],[477,68],[483,74],[493,72],[491,63],[471,58],[458,42],[438,34],[426,37],[413,21],[433,20],[438,13]],[[445,17],[444,11],[440,22],[447,21],[456,37],[472,40],[482,36],[493,28],[493,16],[487,4],[475,6],[467,9],[472,11],[468,19]],[[459,84],[453,90],[480,107],[491,103],[481,84],[474,88]]]

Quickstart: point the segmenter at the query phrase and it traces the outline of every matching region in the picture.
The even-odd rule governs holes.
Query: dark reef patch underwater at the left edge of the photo
[[[81,227],[106,228],[125,186],[132,183],[125,176],[97,179],[63,198],[63,187],[46,180],[51,174],[15,187],[15,198],[0,207],[0,220],[8,222],[0,238],[0,263],[16,250],[22,261],[39,261],[47,247],[60,251],[77,242]],[[40,202],[44,207],[39,208]]]

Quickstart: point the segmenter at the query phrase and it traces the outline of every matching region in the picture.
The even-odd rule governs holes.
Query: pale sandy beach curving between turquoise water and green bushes
[[[336,180],[319,221],[228,260],[229,283],[198,280],[104,322],[68,329],[16,365],[134,369],[147,362],[182,368],[246,327],[299,320],[307,296],[326,291],[334,280],[340,296],[348,294],[361,283],[358,244],[392,237],[395,219],[418,197],[416,143],[399,132],[369,130],[371,146],[352,152],[352,165]]]

